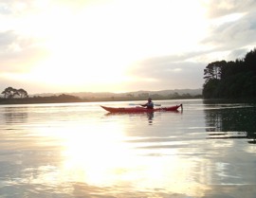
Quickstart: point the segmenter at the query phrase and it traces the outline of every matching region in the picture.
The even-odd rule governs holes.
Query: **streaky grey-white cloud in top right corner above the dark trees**
[[[209,2],[209,33],[201,41],[201,45],[211,48],[208,58],[217,59],[215,61],[234,61],[244,58],[247,51],[255,47],[255,9],[254,0]]]

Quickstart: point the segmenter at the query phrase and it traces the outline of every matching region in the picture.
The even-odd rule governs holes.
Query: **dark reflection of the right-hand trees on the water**
[[[247,138],[256,143],[256,108],[241,104],[209,104],[205,111],[209,138]]]

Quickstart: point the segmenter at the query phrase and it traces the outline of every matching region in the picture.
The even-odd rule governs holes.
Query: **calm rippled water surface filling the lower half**
[[[1,105],[0,197],[256,197],[255,106],[100,107],[128,103]]]

